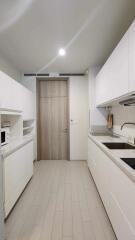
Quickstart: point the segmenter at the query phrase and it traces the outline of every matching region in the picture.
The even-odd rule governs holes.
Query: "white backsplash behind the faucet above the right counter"
[[[112,113],[114,115],[113,132],[126,137],[130,142],[133,142],[135,138],[135,126],[126,125],[121,130],[121,125],[124,122],[135,123],[135,107],[113,106]]]

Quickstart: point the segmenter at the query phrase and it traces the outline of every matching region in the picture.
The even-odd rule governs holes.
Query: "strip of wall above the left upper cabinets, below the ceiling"
[[[1,55],[0,55],[0,70],[8,74],[10,77],[15,79],[16,81],[21,80],[20,71],[16,67],[14,67],[9,61],[3,58]]]

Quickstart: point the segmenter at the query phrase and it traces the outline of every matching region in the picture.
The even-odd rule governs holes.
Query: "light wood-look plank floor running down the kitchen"
[[[40,161],[6,221],[7,240],[116,240],[84,161]]]

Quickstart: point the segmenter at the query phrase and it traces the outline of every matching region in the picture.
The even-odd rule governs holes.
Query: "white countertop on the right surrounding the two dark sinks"
[[[135,149],[115,150],[109,149],[104,142],[126,142],[124,138],[114,138],[111,136],[93,136],[89,134],[89,138],[100,147],[101,150],[132,180],[135,182],[135,170],[124,163],[121,158],[135,158]]]

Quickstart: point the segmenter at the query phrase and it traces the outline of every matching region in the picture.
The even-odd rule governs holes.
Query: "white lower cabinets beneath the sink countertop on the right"
[[[89,139],[88,166],[116,236],[135,239],[135,184]]]

